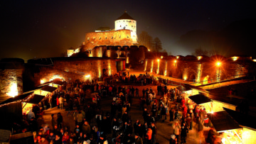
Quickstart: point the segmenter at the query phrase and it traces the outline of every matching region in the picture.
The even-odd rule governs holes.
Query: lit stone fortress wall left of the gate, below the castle
[[[102,77],[103,74],[117,73],[117,63],[122,60],[110,58],[87,57],[85,59],[54,60],[51,67],[39,67],[39,72],[34,74],[36,85],[43,82],[50,82],[55,78],[66,81],[80,79],[80,81],[92,80]]]

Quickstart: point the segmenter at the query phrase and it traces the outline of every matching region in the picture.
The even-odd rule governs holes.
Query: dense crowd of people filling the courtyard
[[[146,76],[142,74],[139,77],[146,79]],[[133,79],[132,82],[138,82],[134,79],[139,77],[131,75],[129,82],[131,79]],[[168,89],[166,85],[159,84],[157,92],[154,92],[151,85],[148,86],[146,89],[138,89],[127,87],[122,83],[67,82],[56,92],[46,96],[40,105],[33,107],[28,113],[25,129],[33,131],[35,143],[155,144],[156,123],[166,121],[169,115],[169,121],[173,121],[174,129],[174,134],[169,140],[170,144],[186,143],[186,135],[192,130],[193,123],[198,123],[198,132],[202,132],[206,116],[205,109],[188,105],[186,94],[178,89]],[[90,91],[92,97],[88,98],[87,91]],[[139,91],[142,91],[141,96],[139,96]],[[101,109],[101,99],[106,96],[112,99],[110,111]],[[133,99],[136,97],[143,111],[143,121],[139,119],[132,121],[130,111]],[[73,117],[74,130],[63,124],[61,113],[57,116],[52,114],[51,127],[38,126],[36,119],[40,116],[40,111],[55,106],[65,109],[68,111],[67,115]]]

